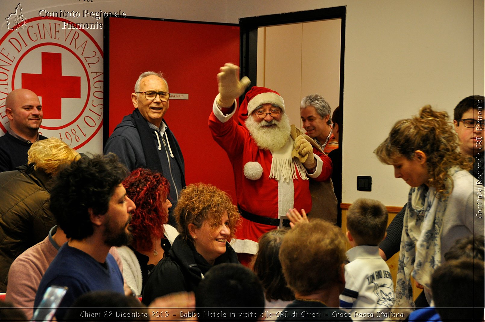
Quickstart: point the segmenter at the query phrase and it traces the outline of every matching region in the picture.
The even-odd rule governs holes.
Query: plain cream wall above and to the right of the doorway
[[[461,98],[485,93],[483,0],[93,1],[105,11],[123,9],[129,16],[227,23],[246,16],[346,5],[344,203],[371,197],[402,206],[408,187],[393,178],[391,166],[377,161],[373,149],[396,120],[417,113],[422,105],[452,113]],[[2,0],[0,17],[17,3]],[[25,0],[22,5],[35,10],[64,5],[74,10],[90,4]],[[5,24],[0,27],[6,32]],[[127,39],[127,46],[132,45],[149,50],[141,39]],[[372,192],[356,191],[358,175],[372,176]]]

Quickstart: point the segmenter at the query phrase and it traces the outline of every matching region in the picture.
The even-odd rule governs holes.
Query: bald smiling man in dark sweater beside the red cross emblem
[[[0,172],[14,170],[27,163],[27,151],[32,143],[47,139],[39,134],[42,105],[31,90],[13,90],[5,99],[5,112],[10,129],[0,137]]]

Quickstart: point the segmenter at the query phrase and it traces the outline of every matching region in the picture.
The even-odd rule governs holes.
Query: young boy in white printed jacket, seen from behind
[[[394,305],[394,285],[389,267],[379,256],[379,242],[386,236],[388,211],[377,200],[357,199],[347,212],[345,289],[340,308],[353,320],[385,320]]]

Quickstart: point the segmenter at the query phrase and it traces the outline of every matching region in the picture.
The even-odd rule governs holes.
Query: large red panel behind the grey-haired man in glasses
[[[130,95],[138,76],[163,72],[170,93],[189,95],[170,100],[164,116],[182,149],[187,184],[213,184],[236,203],[232,167],[210,135],[208,117],[219,67],[239,64],[239,27],[110,18],[109,28],[109,133],[133,111]]]

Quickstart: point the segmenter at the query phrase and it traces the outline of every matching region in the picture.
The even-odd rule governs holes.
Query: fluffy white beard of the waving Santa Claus
[[[275,119],[270,122],[265,120],[256,122],[252,115],[250,115],[246,119],[245,124],[258,147],[263,150],[276,151],[285,145],[290,137],[290,119],[285,113],[281,113],[281,121],[279,122]],[[273,124],[276,126],[270,128],[266,127]]]

